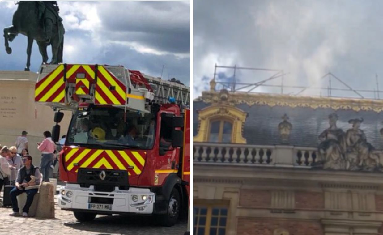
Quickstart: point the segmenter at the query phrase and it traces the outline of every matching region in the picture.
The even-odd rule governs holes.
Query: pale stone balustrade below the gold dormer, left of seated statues
[[[310,167],[319,161],[317,148],[288,145],[193,144],[195,164],[245,164]]]

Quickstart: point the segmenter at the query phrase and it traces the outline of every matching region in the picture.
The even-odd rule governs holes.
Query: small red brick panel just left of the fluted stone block
[[[270,207],[271,193],[267,190],[241,189],[239,205],[246,207]]]

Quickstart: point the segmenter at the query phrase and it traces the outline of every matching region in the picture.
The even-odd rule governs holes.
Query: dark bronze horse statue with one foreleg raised
[[[15,37],[21,33],[28,37],[28,47],[26,49],[27,62],[25,71],[29,71],[33,40],[36,40],[43,63],[47,63],[47,46],[52,46],[52,60],[50,64],[58,64],[62,62],[62,50],[64,45],[64,26],[61,21],[54,20],[52,24],[51,38],[47,41],[46,31],[44,30],[44,19],[40,17],[43,12],[39,12],[38,4],[42,2],[18,2],[16,12],[13,14],[12,25],[4,28],[5,50],[8,54],[12,53],[12,49],[8,45],[8,41],[13,41]],[[41,9],[41,8],[40,8]]]

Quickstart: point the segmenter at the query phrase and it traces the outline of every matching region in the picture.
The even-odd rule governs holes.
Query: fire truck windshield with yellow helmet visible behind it
[[[73,116],[67,145],[151,149],[154,131],[153,114],[127,111],[124,121],[121,108],[92,108]]]

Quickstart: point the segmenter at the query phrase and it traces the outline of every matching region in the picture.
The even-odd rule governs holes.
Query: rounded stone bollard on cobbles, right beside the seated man
[[[40,186],[39,204],[37,206],[36,217],[44,219],[54,219],[54,186],[49,182],[44,182]]]

